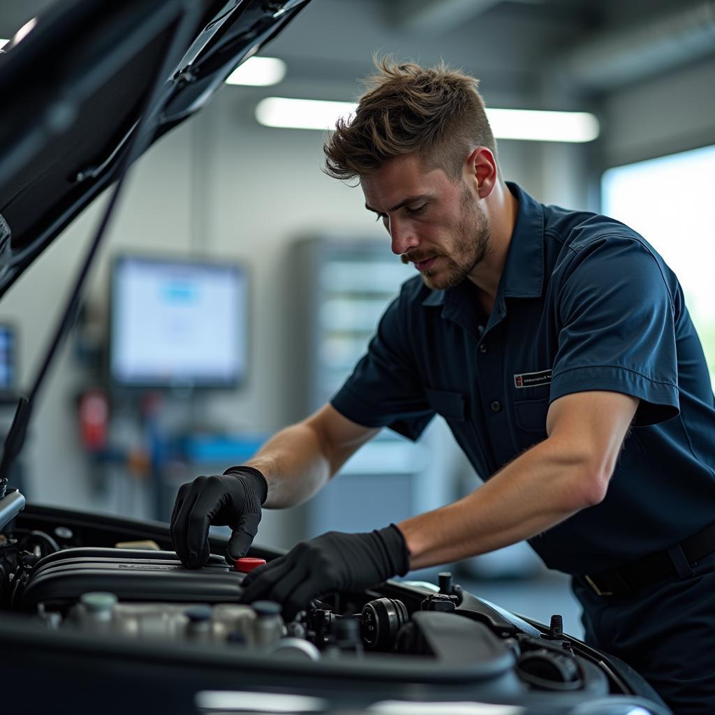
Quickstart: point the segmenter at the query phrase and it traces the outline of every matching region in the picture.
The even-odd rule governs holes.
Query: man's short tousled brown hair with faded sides
[[[335,179],[374,174],[394,157],[417,152],[428,169],[458,181],[475,147],[496,158],[496,142],[478,92],[479,80],[440,62],[421,67],[375,58],[354,117],[337,120],[325,142],[325,173]]]

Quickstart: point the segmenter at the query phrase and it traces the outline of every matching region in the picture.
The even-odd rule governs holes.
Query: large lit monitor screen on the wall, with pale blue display
[[[109,371],[126,387],[228,388],[245,379],[239,265],[122,256],[112,270]]]

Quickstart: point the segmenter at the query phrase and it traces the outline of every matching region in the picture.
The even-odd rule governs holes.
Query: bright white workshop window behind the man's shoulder
[[[602,212],[643,235],[675,271],[715,385],[715,147],[614,167]]]

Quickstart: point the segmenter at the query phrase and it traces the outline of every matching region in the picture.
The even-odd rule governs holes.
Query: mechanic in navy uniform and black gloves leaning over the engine
[[[290,617],[330,591],[527,539],[573,576],[588,643],[678,714],[711,714],[715,398],[683,291],[627,226],[503,181],[477,87],[383,59],[337,123],[326,172],[357,179],[419,275],[329,404],[246,465],[182,485],[174,546],[198,568],[209,523],[227,524],[227,558],[244,555],[262,506],[305,501],[380,428],[415,440],[439,413],[484,485],[397,525],[299,543],[247,576],[244,600]],[[662,191],[654,210],[668,209]]]

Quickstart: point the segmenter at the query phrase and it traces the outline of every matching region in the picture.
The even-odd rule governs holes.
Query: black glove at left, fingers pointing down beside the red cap
[[[268,495],[265,477],[253,467],[230,467],[222,475],[197,477],[179,487],[169,531],[174,550],[187,568],[209,560],[209,526],[230,526],[226,561],[245,556],[258,531]]]

